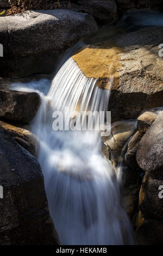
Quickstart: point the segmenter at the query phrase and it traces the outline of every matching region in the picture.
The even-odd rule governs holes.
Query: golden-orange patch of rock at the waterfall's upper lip
[[[108,79],[120,76],[122,52],[123,47],[118,47],[114,43],[105,43],[87,46],[82,51],[74,53],[72,58],[86,77],[104,78],[100,81],[107,83]]]

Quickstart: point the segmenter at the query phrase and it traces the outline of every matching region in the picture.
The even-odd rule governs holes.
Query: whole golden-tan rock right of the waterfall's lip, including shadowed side
[[[137,118],[144,109],[161,106],[163,60],[158,54],[162,32],[162,27],[143,28],[73,55],[86,77],[99,78],[98,86],[111,90],[112,121]]]

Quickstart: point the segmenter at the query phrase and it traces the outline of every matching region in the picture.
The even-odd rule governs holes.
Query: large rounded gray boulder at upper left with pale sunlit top
[[[9,55],[16,57],[70,47],[97,29],[91,15],[65,9],[26,11],[2,19],[8,25]]]

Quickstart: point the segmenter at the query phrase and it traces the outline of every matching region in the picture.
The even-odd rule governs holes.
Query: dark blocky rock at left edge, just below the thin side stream
[[[0,90],[0,118],[29,123],[35,117],[40,103],[37,93]]]

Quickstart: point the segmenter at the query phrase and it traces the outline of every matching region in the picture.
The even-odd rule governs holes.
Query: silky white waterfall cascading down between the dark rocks
[[[120,205],[116,176],[99,150],[98,133],[52,129],[52,112],[64,111],[65,106],[70,112],[76,108],[106,111],[109,91],[97,87],[94,78],[86,78],[72,58],[54,77],[47,96],[40,92],[45,82],[21,84],[13,89],[35,90],[42,99],[32,131],[39,141],[37,158],[61,245],[133,244],[130,223]]]

